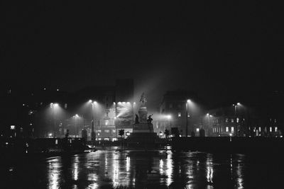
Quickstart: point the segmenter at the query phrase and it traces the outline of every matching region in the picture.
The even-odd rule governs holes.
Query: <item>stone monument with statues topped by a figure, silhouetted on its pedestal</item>
[[[133,124],[133,132],[129,135],[128,144],[131,147],[146,147],[153,148],[158,140],[158,135],[153,130],[152,115],[148,115],[146,108],[146,96],[141,95],[141,106],[138,110],[138,115],[135,116]]]

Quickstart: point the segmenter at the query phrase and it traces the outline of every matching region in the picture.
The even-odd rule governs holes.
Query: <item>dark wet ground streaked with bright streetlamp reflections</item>
[[[273,188],[284,176],[276,162],[243,154],[100,150],[0,171],[6,188]]]

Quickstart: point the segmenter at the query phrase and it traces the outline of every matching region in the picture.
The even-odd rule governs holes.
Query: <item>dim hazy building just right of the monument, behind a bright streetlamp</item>
[[[167,91],[160,103],[160,114],[165,116],[154,122],[155,132],[160,133],[175,127],[180,135],[185,136],[187,127],[187,135],[192,132],[196,134],[202,127],[203,106],[204,102],[192,91]]]

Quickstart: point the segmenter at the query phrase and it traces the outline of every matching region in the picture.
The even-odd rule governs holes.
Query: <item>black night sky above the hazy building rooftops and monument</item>
[[[153,106],[176,88],[217,102],[283,90],[282,6],[114,2],[6,1],[1,81],[74,91],[132,77]]]

